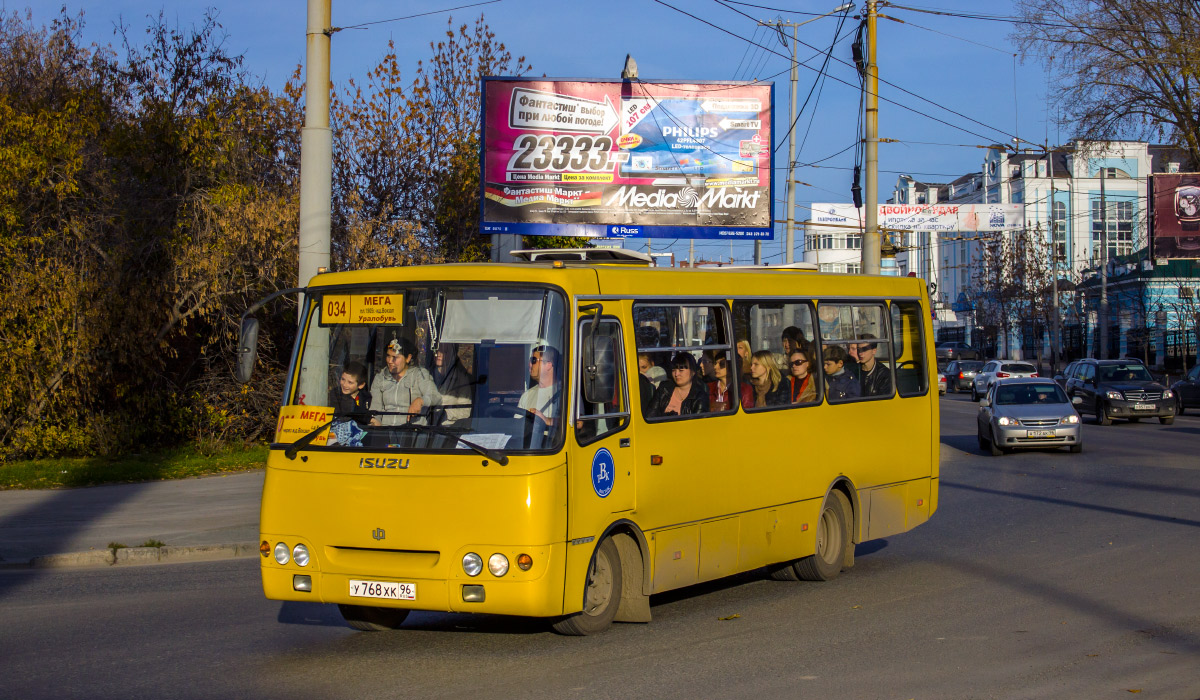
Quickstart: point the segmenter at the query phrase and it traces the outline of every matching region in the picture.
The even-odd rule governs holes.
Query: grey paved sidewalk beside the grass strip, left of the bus
[[[258,554],[262,469],[50,491],[0,491],[0,567],[228,558]],[[166,546],[140,548],[146,540]],[[109,543],[120,543],[114,556]]]

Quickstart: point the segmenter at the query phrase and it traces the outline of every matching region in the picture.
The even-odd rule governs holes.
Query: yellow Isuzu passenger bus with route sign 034
[[[304,289],[268,598],[364,630],[434,610],[592,634],[739,572],[832,579],[937,508],[920,280],[515,255]],[[247,312],[244,381],[256,335]]]

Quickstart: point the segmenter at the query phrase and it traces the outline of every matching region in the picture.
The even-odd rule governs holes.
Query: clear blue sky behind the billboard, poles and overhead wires
[[[349,26],[473,1],[332,0],[332,20],[336,26]],[[936,4],[926,5],[929,1]],[[500,0],[450,13],[348,29],[334,35],[332,76],[335,83],[344,83],[352,77],[361,78],[378,62],[389,40],[396,43],[402,70],[412,76],[416,61],[430,55],[430,42],[442,37],[449,17],[454,18],[455,24],[460,24],[472,22],[482,13],[497,38],[508,44],[514,55],[524,55],[533,66],[533,74],[538,76],[618,79],[625,54],[629,53],[637,60],[642,79],[774,80],[775,132],[776,138],[781,139],[776,145],[784,144],[776,155],[776,164],[786,162],[786,143],[782,138],[788,126],[788,62],[784,56],[769,54],[745,40],[787,54],[790,49],[785,49],[774,34],[756,26],[756,20],[781,18],[785,22],[803,22],[814,13],[832,11],[839,2],[730,2],[745,14],[714,0],[665,2],[667,4],[655,0]],[[34,19],[49,22],[58,13],[59,6],[56,1],[35,4]],[[214,0],[209,4],[67,0],[66,6],[68,12],[84,12],[85,38],[98,43],[118,42],[113,26],[119,18],[124,18],[133,28],[131,36],[140,38],[148,14],[157,14],[162,10],[169,22],[188,25],[200,17],[205,6],[211,6],[217,10],[228,34],[228,48],[233,53],[244,53],[246,67],[269,85],[281,86],[293,68],[304,61],[304,0]],[[1009,0],[914,0],[911,6],[989,16],[1013,13]],[[24,5],[5,2],[5,7],[7,12],[12,12]],[[864,8],[865,2],[859,0],[851,14]],[[973,146],[1012,143],[1014,134],[1039,144],[1048,137],[1051,144],[1070,137],[1069,132],[1060,131],[1052,122],[1058,106],[1048,106],[1044,65],[1037,60],[1021,62],[1019,58],[1014,59],[1016,49],[1008,41],[1012,24],[894,7],[884,7],[882,12],[902,23],[880,19],[880,77],[917,96],[905,94],[896,86],[880,86],[880,95],[884,100],[895,100],[914,110],[886,101],[881,104],[880,136],[899,142],[880,146],[881,201],[890,196],[899,173],[911,174],[923,181],[947,183],[966,172],[978,170],[985,151]],[[847,20],[844,35],[852,34],[853,25],[853,19]],[[833,40],[835,26],[834,17],[817,19],[799,28],[799,38],[823,50]],[[808,134],[797,158],[800,163],[833,156],[851,146],[858,138],[857,77],[853,68],[845,65],[852,64],[852,38],[846,36],[834,49],[830,77],[821,89],[818,101],[816,92],[814,94],[816,109],[814,112],[810,104],[797,125],[798,137]],[[797,55],[803,61],[815,53],[800,46]],[[838,59],[845,64],[838,62]],[[809,65],[820,67],[820,59],[809,61]],[[799,102],[804,101],[816,76],[816,71],[800,68]],[[838,83],[835,78],[856,86]],[[1048,110],[1051,120],[1049,127]],[[810,185],[797,190],[798,221],[806,219],[806,207],[812,202],[850,201],[853,149],[823,160],[820,164],[822,167],[800,167],[796,172],[796,179]],[[776,179],[782,181],[781,173],[776,173]],[[784,219],[782,186],[776,187],[775,198],[775,219]],[[782,226],[776,225],[776,239],[763,243],[764,258],[780,261],[781,241]],[[631,243],[644,245],[644,241]],[[666,243],[668,241],[655,241],[655,250],[662,250]],[[688,241],[676,241],[672,250],[686,256]],[[734,244],[733,256],[739,262],[749,262],[752,244]],[[727,258],[730,245],[696,241],[696,253],[697,257]],[[798,259],[799,256],[797,251]]]

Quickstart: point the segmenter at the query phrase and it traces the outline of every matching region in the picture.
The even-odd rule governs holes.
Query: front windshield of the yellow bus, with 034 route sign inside
[[[558,449],[564,319],[548,288],[317,292],[286,403],[329,409],[316,449]]]

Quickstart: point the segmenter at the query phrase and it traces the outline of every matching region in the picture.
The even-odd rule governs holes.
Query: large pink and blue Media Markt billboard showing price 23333
[[[770,239],[754,83],[484,79],[481,233]]]

